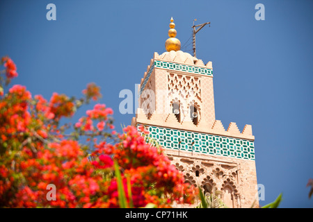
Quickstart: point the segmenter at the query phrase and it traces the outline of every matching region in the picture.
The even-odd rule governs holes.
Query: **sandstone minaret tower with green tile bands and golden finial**
[[[227,207],[251,207],[257,194],[252,126],[215,119],[212,62],[180,51],[170,19],[166,52],[154,53],[138,87],[132,126],[145,126],[186,182],[214,189]],[[256,200],[258,205],[258,200]]]

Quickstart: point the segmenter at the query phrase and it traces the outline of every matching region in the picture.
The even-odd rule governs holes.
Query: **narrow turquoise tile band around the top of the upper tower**
[[[212,69],[202,68],[202,67],[193,67],[191,65],[182,65],[174,62],[163,62],[154,60],[152,66],[150,67],[147,76],[145,76],[145,80],[143,80],[143,84],[141,85],[141,93],[143,92],[143,89],[145,89],[145,85],[147,84],[147,81],[149,80],[151,73],[154,69],[154,67],[162,68],[162,69],[170,69],[170,70],[177,70],[177,71],[186,71],[193,74],[202,74],[207,76],[213,76]]]

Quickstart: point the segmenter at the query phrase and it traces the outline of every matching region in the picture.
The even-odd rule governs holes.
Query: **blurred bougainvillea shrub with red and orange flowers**
[[[96,104],[73,125],[65,122],[101,96],[94,83],[75,99],[47,101],[26,87],[4,87],[17,76],[10,58],[0,71],[0,207],[170,207],[193,203],[195,190],[162,148],[145,142],[141,128],[113,130],[113,110]],[[63,119],[64,121],[61,121]],[[71,133],[67,133],[68,131]],[[47,198],[48,185],[56,198]]]

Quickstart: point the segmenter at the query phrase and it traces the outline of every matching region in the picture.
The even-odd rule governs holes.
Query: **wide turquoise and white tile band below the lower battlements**
[[[145,128],[150,132],[150,137],[155,139],[164,148],[255,160],[254,142],[247,139],[209,135],[157,126],[145,125]]]

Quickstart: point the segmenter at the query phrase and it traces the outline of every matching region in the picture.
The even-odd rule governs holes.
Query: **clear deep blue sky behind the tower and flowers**
[[[46,19],[48,3],[56,21]],[[257,3],[264,21],[255,19]],[[313,1],[282,0],[1,1],[0,56],[15,61],[13,83],[33,95],[81,96],[97,83],[120,131],[134,114],[118,112],[119,92],[134,92],[154,51],[165,51],[170,17],[182,44],[193,19],[211,22],[197,34],[197,57],[213,62],[216,119],[225,128],[252,124],[260,204],[282,192],[281,207],[313,207],[312,10]]]

